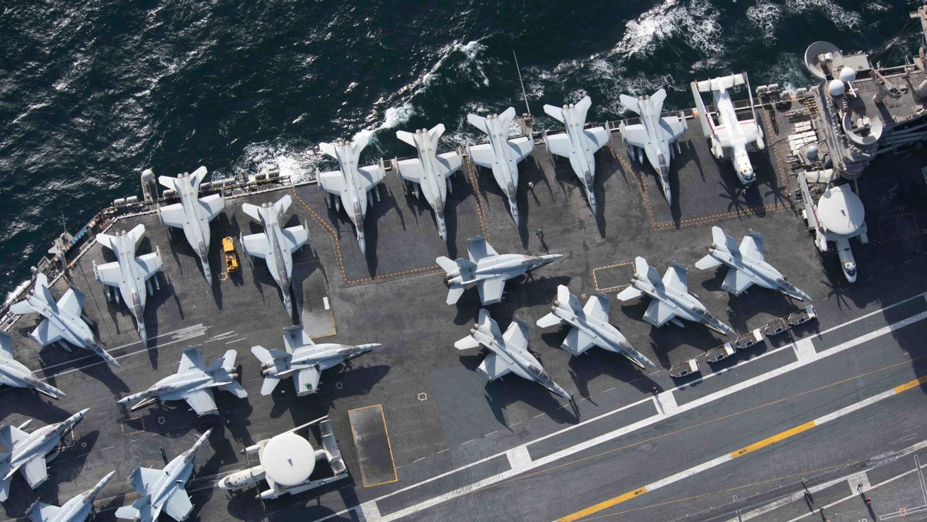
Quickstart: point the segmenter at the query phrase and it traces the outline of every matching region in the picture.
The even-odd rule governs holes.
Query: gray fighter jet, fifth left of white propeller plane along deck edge
[[[379,201],[379,185],[386,176],[382,162],[367,167],[357,166],[361,151],[369,140],[370,134],[362,133],[354,138],[353,142],[337,140],[335,143],[319,144],[322,152],[338,160],[337,171],[319,174],[319,190],[325,192],[325,204],[329,209],[332,207],[333,196],[338,198],[335,201],[335,210],[340,210],[338,200],[341,201],[351,223],[354,223],[357,243],[364,255],[367,246],[363,239],[363,217],[367,213],[367,193],[373,190],[376,200]]]

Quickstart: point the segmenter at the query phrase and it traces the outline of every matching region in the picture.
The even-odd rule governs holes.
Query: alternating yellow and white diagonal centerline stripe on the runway
[[[702,473],[705,470],[711,469],[713,467],[717,467],[718,465],[729,463],[735,458],[742,457],[745,454],[756,452],[756,450],[766,448],[768,446],[771,446],[772,444],[775,444],[776,442],[790,439],[794,437],[795,435],[798,435],[799,433],[804,433],[813,427],[819,427],[822,424],[839,419],[848,414],[854,414],[858,412],[859,410],[866,408],[867,406],[871,406],[872,404],[875,404],[876,402],[883,401],[885,399],[888,399],[889,397],[895,397],[895,395],[898,395],[899,393],[903,393],[907,391],[908,389],[916,388],[920,386],[921,384],[923,384],[924,382],[927,382],[927,376],[921,376],[914,380],[910,380],[904,384],[896,386],[895,388],[887,389],[881,393],[877,393],[876,395],[873,395],[862,401],[857,401],[853,404],[850,404],[849,406],[836,410],[830,414],[822,415],[815,420],[806,422],[796,427],[791,427],[771,437],[759,440],[748,446],[744,446],[743,448],[735,452],[723,454],[706,463],[703,463],[701,465],[695,465],[693,467],[690,467],[689,469],[680,471],[679,473],[675,475],[671,475],[669,477],[662,478],[660,480],[647,484],[646,486],[638,488],[637,490],[631,490],[626,493],[622,493],[614,498],[608,499],[601,503],[590,505],[590,507],[581,509],[567,516],[560,517],[557,519],[557,522],[573,522],[574,520],[579,520],[581,518],[594,515],[596,513],[599,513],[600,511],[603,511],[604,509],[608,509],[610,507],[616,506],[619,503],[625,503],[631,499],[635,499],[647,491],[658,490],[664,486],[668,486],[670,484],[679,482],[679,480],[693,477],[695,475],[698,475],[699,473]]]

